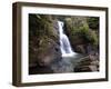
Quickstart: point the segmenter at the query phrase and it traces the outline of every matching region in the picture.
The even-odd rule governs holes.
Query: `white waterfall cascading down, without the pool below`
[[[62,57],[72,57],[75,52],[72,50],[68,36],[63,32],[63,22],[58,21],[60,33],[60,49]]]

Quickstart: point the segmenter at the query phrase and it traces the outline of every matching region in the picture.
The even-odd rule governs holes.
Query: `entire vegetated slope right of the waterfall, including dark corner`
[[[95,19],[95,20],[93,20]],[[93,26],[92,26],[93,24]],[[71,17],[65,18],[64,29],[65,33],[69,36],[73,49],[78,52],[88,53],[88,44],[93,48],[99,46],[99,33],[98,26],[99,22],[97,18],[85,18],[85,17]],[[97,27],[97,28],[95,28]],[[94,29],[93,29],[94,28]],[[80,49],[78,47],[81,47]]]

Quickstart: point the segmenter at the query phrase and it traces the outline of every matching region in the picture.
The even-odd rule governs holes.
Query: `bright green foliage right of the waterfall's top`
[[[69,18],[65,20],[65,33],[73,43],[91,43],[98,46],[95,31],[89,28],[85,18]],[[73,41],[74,40],[74,41]]]

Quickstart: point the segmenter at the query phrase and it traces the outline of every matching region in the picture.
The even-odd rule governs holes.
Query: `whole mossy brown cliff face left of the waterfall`
[[[58,24],[51,16],[29,14],[29,63],[49,66],[61,59]]]

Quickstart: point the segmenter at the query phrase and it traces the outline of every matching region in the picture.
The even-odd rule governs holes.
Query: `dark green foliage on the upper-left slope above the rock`
[[[48,36],[53,40],[59,38],[51,16],[46,14],[30,14],[29,16],[29,37]]]

